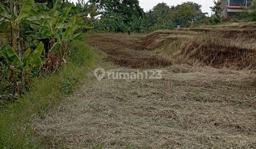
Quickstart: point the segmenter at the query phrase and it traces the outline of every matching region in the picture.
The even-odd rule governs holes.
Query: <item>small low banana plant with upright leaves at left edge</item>
[[[47,59],[41,59],[44,44],[41,42],[37,48],[31,53],[31,49],[28,48],[22,55],[22,60],[19,59],[15,51],[8,45],[0,49],[0,54],[10,64],[10,68],[15,71],[21,72],[23,86],[25,85],[25,74],[27,71],[31,71],[33,67],[42,65]]]

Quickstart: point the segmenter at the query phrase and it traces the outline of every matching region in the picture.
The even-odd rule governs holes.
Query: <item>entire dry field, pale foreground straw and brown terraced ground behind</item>
[[[87,34],[95,68],[163,76],[98,81],[92,70],[59,107],[35,118],[38,139],[44,148],[256,148],[254,29]]]

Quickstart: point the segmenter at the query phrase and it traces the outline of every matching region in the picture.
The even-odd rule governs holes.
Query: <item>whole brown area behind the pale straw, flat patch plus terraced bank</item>
[[[160,30],[145,37],[91,34],[87,42],[107,53],[109,61],[130,68],[165,67],[175,63],[193,65],[196,62],[201,66],[255,70],[255,37],[256,30],[245,28],[189,28]]]

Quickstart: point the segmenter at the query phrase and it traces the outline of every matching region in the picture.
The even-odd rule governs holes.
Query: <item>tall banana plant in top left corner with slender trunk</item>
[[[12,49],[16,51],[17,48],[17,39],[19,39],[19,25],[24,17],[26,17],[29,12],[31,7],[34,4],[34,0],[26,0],[25,3],[22,5],[21,10],[20,4],[17,2],[10,2],[10,8],[1,5],[0,4],[0,24],[2,23],[9,23],[12,29]],[[21,51],[21,46],[20,46],[20,40],[19,40],[19,56],[21,59],[22,56],[22,51]]]

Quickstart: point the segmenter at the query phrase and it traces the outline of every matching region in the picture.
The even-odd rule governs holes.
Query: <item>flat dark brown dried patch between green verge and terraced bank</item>
[[[92,34],[87,42],[104,51],[108,54],[108,60],[119,66],[143,68],[172,64],[160,54],[142,49],[139,46],[140,38],[135,36],[127,38],[123,34]]]

